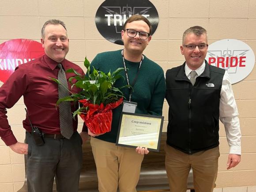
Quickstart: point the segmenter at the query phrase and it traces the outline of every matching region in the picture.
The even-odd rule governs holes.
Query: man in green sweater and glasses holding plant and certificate
[[[115,87],[122,87],[128,82],[134,91],[123,89],[124,97],[137,103],[136,113],[162,115],[162,106],[166,93],[165,78],[162,68],[143,55],[143,50],[151,40],[152,26],[141,15],[132,15],[124,23],[121,32],[124,49],[99,53],[91,65],[95,69],[109,72],[117,68],[128,68],[124,79],[118,79]],[[113,109],[111,132],[95,135],[88,130],[97,167],[98,189],[100,192],[136,192],[140,166],[147,148],[136,149],[116,146],[117,129],[122,106]]]

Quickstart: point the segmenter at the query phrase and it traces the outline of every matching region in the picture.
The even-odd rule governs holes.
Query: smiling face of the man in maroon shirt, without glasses
[[[45,54],[60,63],[65,59],[69,49],[67,31],[62,25],[48,24],[45,26],[44,34],[41,43]]]

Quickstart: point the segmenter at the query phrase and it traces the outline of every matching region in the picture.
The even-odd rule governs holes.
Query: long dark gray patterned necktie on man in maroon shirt
[[[58,80],[62,84],[58,86],[59,90],[59,99],[69,96],[68,81],[66,78],[66,73],[62,68],[61,64],[57,65],[60,68],[58,73]],[[60,132],[65,138],[70,139],[73,135],[73,120],[70,102],[61,102],[59,105],[60,110]]]

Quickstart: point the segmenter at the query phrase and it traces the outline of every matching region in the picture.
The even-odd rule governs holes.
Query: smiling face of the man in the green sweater
[[[127,23],[125,29],[133,29],[138,32],[150,33],[149,26],[142,20]],[[139,34],[136,34],[134,38],[131,38],[127,35],[127,30],[122,30],[121,35],[122,40],[124,41],[124,49],[129,53],[142,54],[151,40],[151,36],[149,36],[146,40],[142,40],[139,38]]]

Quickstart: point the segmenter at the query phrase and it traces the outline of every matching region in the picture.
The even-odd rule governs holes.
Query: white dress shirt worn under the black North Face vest
[[[205,62],[197,68],[196,77],[200,76],[205,68]],[[190,79],[190,72],[193,71],[185,64],[185,73]],[[225,71],[222,80],[219,103],[219,119],[224,124],[226,137],[230,146],[230,154],[241,154],[241,130],[237,110],[237,104],[231,87],[230,76]]]

